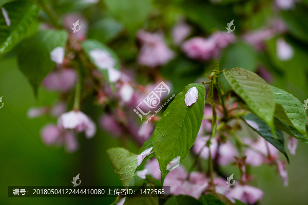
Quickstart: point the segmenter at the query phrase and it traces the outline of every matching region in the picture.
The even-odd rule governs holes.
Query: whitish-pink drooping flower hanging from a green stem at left
[[[81,111],[72,110],[62,114],[58,119],[58,126],[65,129],[74,129],[78,132],[85,131],[88,138],[93,137],[96,133],[95,123]]]

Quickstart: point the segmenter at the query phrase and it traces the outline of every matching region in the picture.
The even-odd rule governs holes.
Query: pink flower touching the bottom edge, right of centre
[[[234,199],[238,199],[247,204],[255,204],[263,196],[263,192],[255,187],[248,185],[239,185],[235,186],[229,192],[225,194],[232,202],[235,202]]]

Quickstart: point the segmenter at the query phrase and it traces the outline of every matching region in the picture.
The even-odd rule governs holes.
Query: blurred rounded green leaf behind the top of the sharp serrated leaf
[[[257,64],[258,57],[255,50],[245,43],[236,43],[228,46],[224,50],[219,63],[222,70],[240,67],[252,72],[256,71]]]

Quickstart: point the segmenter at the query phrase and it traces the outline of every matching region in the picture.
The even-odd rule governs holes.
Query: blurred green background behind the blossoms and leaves
[[[5,2],[8,1],[0,1],[0,5]],[[110,46],[123,63],[130,66],[134,65],[132,62],[138,54],[134,38],[138,29],[161,29],[166,34],[166,42],[172,45],[170,29],[179,16],[185,16],[193,27],[192,36],[210,35],[217,29],[225,31],[227,23],[236,19],[235,34],[239,40],[221,54],[221,68],[242,67],[256,72],[263,66],[273,75],[271,85],[292,93],[302,102],[308,98],[307,1],[301,1],[293,9],[282,9],[280,12],[274,2],[265,0],[225,0],[215,4],[198,0],[108,0],[90,6],[83,6],[80,2],[66,0],[50,4],[59,16],[63,12],[88,14],[88,35]],[[294,49],[291,60],[282,62],[277,59],[277,36],[267,39],[266,49],[262,51],[256,51],[243,39],[240,40],[243,33],[263,28],[272,17],[280,17],[287,24],[288,30],[281,36]],[[38,22],[34,22],[27,35],[35,31],[37,26]],[[17,50],[18,47],[0,56],[0,97],[3,96],[4,103],[0,109],[0,204],[110,204],[114,198],[7,197],[8,186],[71,186],[72,178],[79,173],[81,186],[121,186],[105,152],[110,147],[120,146],[120,141],[101,129],[92,139],[79,136],[80,149],[72,154],[66,153],[63,148],[42,144],[41,128],[48,122],[55,122],[55,119],[28,119],[26,113],[32,106],[52,105],[58,94],[41,88],[35,101],[27,79],[17,68]],[[190,60],[178,51],[177,58],[162,67],[161,73],[172,82],[175,91],[180,92],[187,83],[200,77],[204,79],[204,72],[208,73],[214,64],[214,60],[206,63]],[[186,68],[189,70],[185,71]],[[83,110],[96,122],[103,113],[100,108],[92,106],[91,99]],[[138,153],[139,147],[133,142],[129,142],[128,147],[130,151]],[[308,147],[299,142],[296,156],[289,154],[289,157],[291,165],[287,165],[288,187],[283,187],[274,168],[252,168],[256,185],[264,192],[260,204],[307,204]],[[189,163],[189,159],[187,157],[184,164]],[[225,171],[236,172],[234,167],[226,167]]]

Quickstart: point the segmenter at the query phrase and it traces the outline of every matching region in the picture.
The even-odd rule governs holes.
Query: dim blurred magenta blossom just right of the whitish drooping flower
[[[100,118],[100,126],[116,137],[124,133],[122,126],[110,114],[105,114]]]

